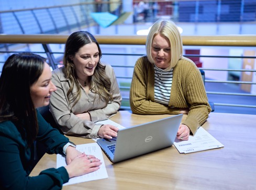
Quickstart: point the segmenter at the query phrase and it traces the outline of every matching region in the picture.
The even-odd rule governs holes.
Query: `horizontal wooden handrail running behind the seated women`
[[[94,35],[99,44],[144,45],[146,35]],[[64,44],[69,35],[63,34],[0,34],[0,43]],[[215,35],[182,37],[183,45],[251,46],[256,47],[256,35]]]

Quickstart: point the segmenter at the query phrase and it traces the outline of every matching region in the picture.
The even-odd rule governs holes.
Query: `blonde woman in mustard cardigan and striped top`
[[[202,75],[183,56],[182,38],[175,23],[160,19],[151,27],[147,55],[138,58],[130,88],[130,106],[136,114],[187,114],[177,138],[187,140],[211,111]]]

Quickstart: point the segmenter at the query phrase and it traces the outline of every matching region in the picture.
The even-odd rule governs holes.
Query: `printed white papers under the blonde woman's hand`
[[[194,136],[188,140],[175,139],[174,146],[180,153],[191,153],[224,147],[216,138],[210,135],[203,127],[199,127]]]

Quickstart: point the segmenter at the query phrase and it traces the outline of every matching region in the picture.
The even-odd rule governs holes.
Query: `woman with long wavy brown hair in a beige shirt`
[[[65,44],[63,67],[55,69],[50,111],[66,135],[84,138],[117,136],[113,125],[95,124],[117,113],[121,94],[110,65],[100,59],[102,51],[87,31],[72,33]]]

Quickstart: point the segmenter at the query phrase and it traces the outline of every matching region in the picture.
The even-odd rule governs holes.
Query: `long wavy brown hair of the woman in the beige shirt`
[[[99,98],[106,102],[105,106],[107,106],[107,103],[110,100],[113,100],[113,96],[110,93],[111,81],[110,78],[106,75],[106,66],[102,65],[100,61],[102,57],[101,48],[99,47],[99,44],[94,36],[87,31],[74,32],[66,40],[63,64],[64,74],[66,78],[70,80],[70,89],[68,90],[67,94],[68,101],[69,103],[73,102],[74,106],[81,98],[81,87],[79,81],[77,80],[74,63],[70,57],[74,56],[81,47],[89,43],[95,43],[99,51],[99,62],[94,70],[94,74],[89,77],[90,86],[93,87],[92,91],[97,93]],[[72,94],[74,88],[77,89],[77,92]]]

